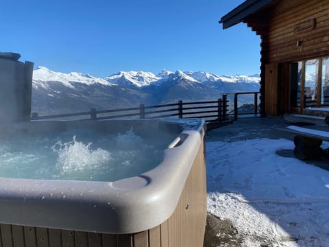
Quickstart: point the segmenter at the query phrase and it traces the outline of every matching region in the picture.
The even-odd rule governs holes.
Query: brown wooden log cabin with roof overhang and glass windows
[[[329,106],[329,0],[247,0],[219,23],[246,23],[260,35],[261,113]]]

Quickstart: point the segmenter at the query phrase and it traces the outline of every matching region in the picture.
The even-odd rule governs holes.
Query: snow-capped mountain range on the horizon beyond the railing
[[[106,78],[85,73],[54,72],[38,67],[33,74],[32,112],[39,115],[74,113],[139,104],[212,100],[221,93],[259,91],[258,75],[219,76],[208,72],[162,70],[120,71]]]

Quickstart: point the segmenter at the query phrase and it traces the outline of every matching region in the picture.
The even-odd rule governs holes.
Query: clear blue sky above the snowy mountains
[[[106,77],[118,71],[259,73],[260,38],[221,16],[243,0],[8,0],[0,51],[53,71]]]

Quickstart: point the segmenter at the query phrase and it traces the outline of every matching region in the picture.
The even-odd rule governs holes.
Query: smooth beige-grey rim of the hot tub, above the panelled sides
[[[18,216],[21,215],[21,217],[24,217],[24,215],[17,213],[12,215],[9,213],[8,217],[2,217],[3,220],[1,220],[1,222],[5,224],[19,223],[22,225],[62,228],[66,230],[93,231],[97,233],[136,233],[161,224],[167,220],[175,210],[188,172],[191,169],[193,159],[197,155],[197,150],[199,150],[199,146],[203,141],[204,121],[198,121],[198,123],[202,126],[198,126],[195,129],[184,129],[182,131],[182,133],[188,134],[188,138],[184,143],[178,147],[165,150],[165,152],[169,154],[167,154],[164,160],[154,169],[141,174],[142,176],[150,177],[152,183],[138,189],[120,189],[113,186],[113,182],[65,180],[32,181],[20,178],[0,178],[0,187],[4,184],[11,185],[10,188],[0,191],[0,211],[16,209],[16,211],[21,210],[25,211],[25,213],[29,212],[28,215],[34,215],[33,219],[25,215],[25,219],[21,219],[21,222],[19,222],[20,219]],[[194,148],[188,148],[189,155],[180,155],[180,152],[185,150],[186,146],[191,143]],[[183,164],[180,170],[175,169],[171,164],[171,159],[173,159],[171,155],[173,153],[173,156],[178,156],[180,162]],[[174,176],[169,173],[161,173],[160,169],[164,169],[164,167],[167,167],[167,170],[169,167],[171,169],[171,174],[174,172]],[[126,179],[129,180],[133,178],[136,177]],[[170,180],[169,178],[171,178],[171,180],[176,180],[175,186],[169,184],[171,187],[169,185],[164,187],[163,183],[165,183],[166,180]],[[23,190],[23,192],[20,191],[20,187],[24,186],[16,183],[17,180],[23,181],[26,184],[25,188],[30,187],[34,190],[26,189],[25,191]],[[33,185],[32,187],[30,185],[31,182]],[[51,198],[47,197],[45,195],[45,190],[43,190],[45,184],[49,186],[49,182],[56,188],[53,190]],[[72,189],[72,184],[77,185],[80,189],[84,188],[86,192],[81,195],[80,191],[74,191]],[[93,185],[94,189],[88,191],[90,184]],[[83,187],[83,185],[85,187]],[[38,189],[40,189],[40,191],[38,191]],[[110,190],[102,193],[102,191],[106,189]],[[63,191],[70,192],[63,193]],[[159,191],[162,192],[159,193]],[[25,193],[24,198],[22,198],[22,193]],[[101,198],[97,196],[99,194]],[[110,204],[108,204],[108,202],[110,202]],[[64,207],[64,209],[60,209],[56,215],[53,215],[52,222],[47,224],[44,219],[42,221],[40,217],[49,214],[50,212],[48,209],[53,210],[53,207],[58,207],[58,204]],[[70,215],[76,213],[76,211],[79,211],[81,215],[87,213],[89,215],[93,214],[93,218],[101,219],[101,224],[99,224],[97,220],[95,220],[95,222],[89,222],[88,224],[90,216],[80,216],[79,220],[72,219]],[[56,218],[60,216],[64,216],[64,221],[66,222],[58,221],[55,222],[54,225],[53,220],[56,221]],[[116,224],[108,224],[110,220],[117,222]]]

